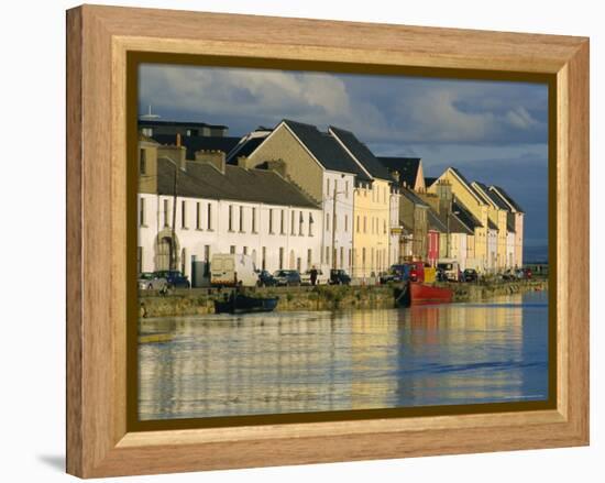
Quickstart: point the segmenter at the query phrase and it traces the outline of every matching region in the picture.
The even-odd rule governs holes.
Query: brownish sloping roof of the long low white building
[[[174,195],[175,164],[157,160],[157,193]],[[178,169],[177,195],[188,198],[224,199],[267,205],[319,208],[307,195],[272,171],[226,166],[224,175],[209,163],[190,161]]]

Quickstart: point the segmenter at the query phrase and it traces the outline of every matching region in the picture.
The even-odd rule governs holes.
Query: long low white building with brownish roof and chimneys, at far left
[[[201,286],[213,253],[248,254],[270,272],[319,265],[321,210],[278,173],[227,165],[222,152],[186,161],[184,149],[150,142],[140,166],[141,272],[172,261]]]

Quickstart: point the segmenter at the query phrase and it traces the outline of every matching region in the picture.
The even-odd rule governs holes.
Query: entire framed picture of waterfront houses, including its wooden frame
[[[67,466],[588,441],[588,41],[67,12]]]

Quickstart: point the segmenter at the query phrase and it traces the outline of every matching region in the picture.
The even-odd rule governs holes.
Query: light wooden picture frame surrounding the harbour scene
[[[132,431],[127,421],[127,57],[176,53],[556,86],[556,407]],[[551,144],[552,145],[552,144]],[[67,471],[81,477],[588,443],[588,41],[84,6],[67,12]]]

